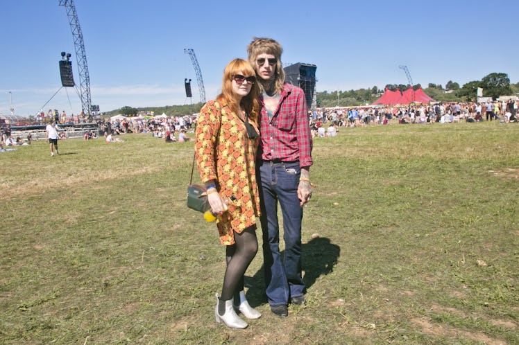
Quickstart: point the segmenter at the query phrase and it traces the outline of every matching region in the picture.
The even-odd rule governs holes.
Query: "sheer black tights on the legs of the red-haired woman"
[[[255,227],[248,227],[241,233],[235,233],[235,244],[226,248],[227,269],[223,276],[221,301],[238,297],[239,292],[244,290],[244,274],[257,253],[255,230]]]

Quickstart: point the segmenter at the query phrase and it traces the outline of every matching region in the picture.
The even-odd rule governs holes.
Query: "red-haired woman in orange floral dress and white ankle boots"
[[[255,159],[259,88],[255,80],[254,69],[246,60],[229,62],[223,70],[221,94],[205,103],[195,132],[198,172],[216,215],[220,242],[226,245],[227,267],[221,295],[216,294],[214,317],[230,328],[248,326],[236,311],[247,319],[261,317],[244,292],[244,274],[258,247]]]

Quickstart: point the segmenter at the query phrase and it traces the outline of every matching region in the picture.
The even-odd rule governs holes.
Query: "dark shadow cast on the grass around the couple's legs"
[[[283,256],[284,251],[281,252]],[[262,256],[259,249],[257,256]],[[333,267],[341,255],[341,248],[332,244],[330,238],[312,238],[307,243],[303,243],[302,265],[305,276],[303,281],[307,289],[311,288],[320,276],[325,276],[333,272]],[[245,276],[245,286],[248,288],[247,300],[253,308],[264,303],[268,303],[265,294],[264,265],[254,274]]]

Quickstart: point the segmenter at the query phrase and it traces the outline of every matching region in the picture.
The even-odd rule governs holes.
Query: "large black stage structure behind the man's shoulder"
[[[296,85],[305,91],[308,109],[315,109],[316,107],[316,69],[315,64],[291,64],[284,67],[284,80],[291,85]]]

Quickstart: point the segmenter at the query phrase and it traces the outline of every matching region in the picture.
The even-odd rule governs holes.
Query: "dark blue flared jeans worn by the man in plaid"
[[[259,196],[263,231],[266,297],[271,306],[287,305],[305,293],[301,274],[301,220],[298,198],[299,162],[259,161]],[[284,254],[280,254],[278,201],[283,216]]]

